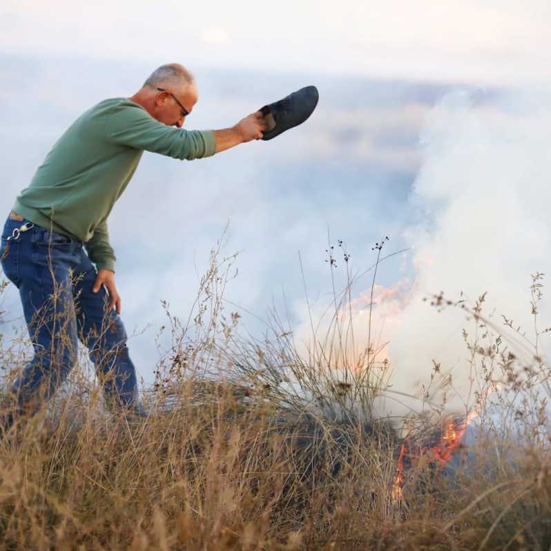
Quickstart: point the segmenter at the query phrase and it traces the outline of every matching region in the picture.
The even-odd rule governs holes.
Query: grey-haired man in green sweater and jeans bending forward
[[[88,347],[108,403],[139,409],[135,368],[119,318],[109,213],[144,150],[194,160],[260,139],[267,129],[258,111],[232,128],[182,130],[197,99],[186,68],[158,68],[132,97],[105,99],[81,115],[17,197],[3,229],[0,258],[19,289],[35,350],[12,386],[19,414],[37,411],[65,380],[78,339]]]

